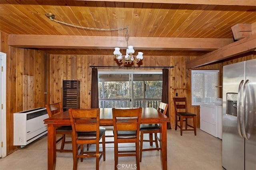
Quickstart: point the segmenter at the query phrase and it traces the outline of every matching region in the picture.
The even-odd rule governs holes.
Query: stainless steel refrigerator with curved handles
[[[256,170],[256,59],[223,67],[222,167]]]

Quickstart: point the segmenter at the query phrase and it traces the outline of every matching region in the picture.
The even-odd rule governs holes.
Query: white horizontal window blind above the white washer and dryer
[[[191,71],[192,106],[213,103],[218,98],[218,72],[219,70]]]

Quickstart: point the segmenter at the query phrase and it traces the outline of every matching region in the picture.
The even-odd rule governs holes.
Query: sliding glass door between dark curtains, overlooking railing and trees
[[[158,107],[162,71],[98,71],[99,107]]]

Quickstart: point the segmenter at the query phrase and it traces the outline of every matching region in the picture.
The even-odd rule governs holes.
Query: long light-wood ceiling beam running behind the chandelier
[[[130,37],[128,41],[135,49],[204,51],[213,51],[232,42],[233,39],[162,37]],[[76,35],[9,35],[8,45],[21,48],[126,49],[124,37]]]

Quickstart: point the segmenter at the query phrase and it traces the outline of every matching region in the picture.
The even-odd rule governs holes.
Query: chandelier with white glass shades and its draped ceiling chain
[[[56,20],[56,16],[52,13],[45,13],[45,16],[48,17],[50,20],[55,21],[57,23],[61,23],[63,25],[67,25],[70,27],[75,27],[75,28],[79,28],[79,29],[86,29],[86,30],[90,30],[90,31],[121,31],[121,30],[125,30],[125,41],[126,41],[126,55],[122,56],[122,53],[120,52],[120,48],[119,47],[115,47],[114,50],[114,55],[116,57],[116,59],[118,60],[118,63],[122,63],[123,61],[126,62],[126,64],[132,64],[132,62],[140,62],[143,59],[143,53],[142,52],[138,52],[138,55],[136,56],[136,59],[134,59],[134,49],[132,45],[128,45],[128,40],[129,40],[129,30],[128,27],[121,27],[121,28],[116,28],[116,29],[100,29],[100,28],[90,28],[90,27],[82,27],[82,26],[78,26],[78,25],[73,25],[70,23],[65,23],[62,21],[58,21]]]

